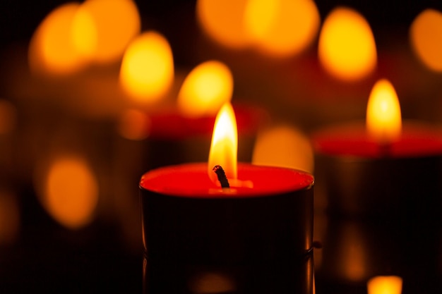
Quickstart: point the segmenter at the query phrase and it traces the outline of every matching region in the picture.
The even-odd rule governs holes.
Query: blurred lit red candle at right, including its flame
[[[397,109],[388,111],[391,106]],[[336,232],[350,223],[366,240],[358,246],[381,257],[367,267],[359,264],[364,274],[399,274],[413,293],[431,289],[438,281],[441,131],[425,123],[402,124],[393,86],[380,80],[371,92],[366,125],[325,128],[312,141],[320,191],[316,212],[325,209],[330,217],[320,275],[334,271],[333,256],[348,241],[338,241]]]

